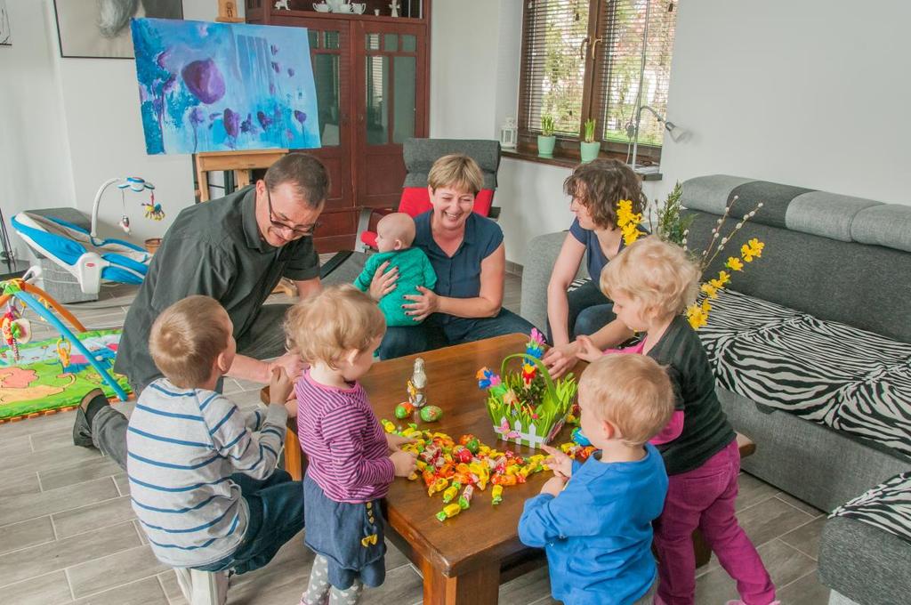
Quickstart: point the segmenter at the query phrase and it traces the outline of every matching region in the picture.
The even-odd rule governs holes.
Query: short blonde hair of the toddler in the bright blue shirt
[[[670,422],[674,392],[667,372],[648,355],[609,354],[578,381],[579,403],[616,426],[623,442],[640,446]]]

